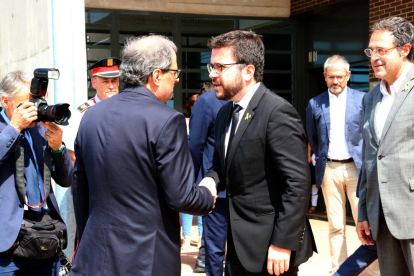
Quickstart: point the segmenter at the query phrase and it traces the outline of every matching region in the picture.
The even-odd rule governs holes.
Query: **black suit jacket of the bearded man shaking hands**
[[[246,270],[262,272],[273,244],[292,250],[299,265],[316,250],[306,218],[311,185],[300,117],[286,100],[260,84],[240,118],[226,166],[232,104],[224,105],[217,116],[213,167],[206,176],[214,178],[219,190],[227,188],[237,255]]]

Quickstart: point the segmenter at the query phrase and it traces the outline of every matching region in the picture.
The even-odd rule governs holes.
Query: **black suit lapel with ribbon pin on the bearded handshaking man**
[[[239,119],[240,124],[236,130],[236,133],[233,137],[233,141],[231,145],[227,147],[227,164],[226,164],[226,174],[229,170],[230,164],[233,161],[234,154],[236,153],[236,149],[239,146],[240,140],[243,137],[244,132],[246,131],[247,127],[249,126],[250,122],[253,120],[254,110],[257,107],[260,99],[262,98],[263,94],[267,91],[266,86],[263,83],[257,88],[256,92],[254,93],[252,99],[249,102],[245,112],[243,113],[243,117]]]

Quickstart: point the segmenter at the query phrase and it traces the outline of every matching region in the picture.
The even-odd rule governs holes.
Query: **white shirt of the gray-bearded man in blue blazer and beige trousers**
[[[336,160],[349,159],[348,145],[345,139],[345,114],[346,114],[346,95],[348,87],[337,96],[328,90],[329,113],[331,123],[329,125],[329,148],[328,158]]]

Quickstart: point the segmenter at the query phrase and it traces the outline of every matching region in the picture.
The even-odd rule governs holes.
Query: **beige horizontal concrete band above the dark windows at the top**
[[[85,7],[228,16],[290,16],[290,0],[85,0]]]

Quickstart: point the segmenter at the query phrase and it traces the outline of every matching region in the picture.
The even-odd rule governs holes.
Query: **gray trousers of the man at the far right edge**
[[[385,222],[382,207],[377,247],[381,275],[414,276],[414,239],[398,240],[394,238]]]

